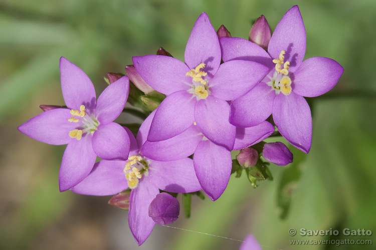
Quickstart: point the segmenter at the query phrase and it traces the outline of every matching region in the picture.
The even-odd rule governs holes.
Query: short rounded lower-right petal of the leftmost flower
[[[126,160],[130,148],[127,131],[118,123],[99,125],[93,134],[93,149],[101,159]]]

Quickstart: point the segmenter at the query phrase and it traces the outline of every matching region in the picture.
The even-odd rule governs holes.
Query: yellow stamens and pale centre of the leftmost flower
[[[82,128],[82,129],[76,128],[76,129],[73,129],[72,131],[70,131],[69,136],[71,138],[76,138],[77,140],[80,140],[83,133],[89,133],[90,132],[91,134],[93,134],[94,131],[97,130],[97,128],[100,124],[98,119],[95,117],[94,114],[92,114],[91,116],[86,115],[85,111],[86,111],[85,105],[81,105],[80,110],[71,109],[71,114],[73,116],[70,117],[68,119],[68,121],[79,122],[80,118],[82,118],[82,126],[80,126],[80,128]],[[78,118],[76,118],[74,116],[78,116]]]

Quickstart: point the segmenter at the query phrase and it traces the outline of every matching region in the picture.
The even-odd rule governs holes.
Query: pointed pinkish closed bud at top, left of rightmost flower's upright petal
[[[261,15],[253,24],[248,39],[265,50],[268,50],[268,44],[272,37],[270,26],[264,15]]]

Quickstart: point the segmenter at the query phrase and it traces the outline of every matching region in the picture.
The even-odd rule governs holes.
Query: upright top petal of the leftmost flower
[[[61,89],[68,108],[79,109],[85,105],[91,112],[95,108],[95,89],[90,78],[81,68],[60,57]]]

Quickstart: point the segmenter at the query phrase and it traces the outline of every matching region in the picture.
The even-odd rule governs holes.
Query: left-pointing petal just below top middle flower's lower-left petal
[[[204,135],[197,126],[192,125],[184,132],[161,141],[146,141],[140,154],[160,161],[177,160],[193,154]]]

